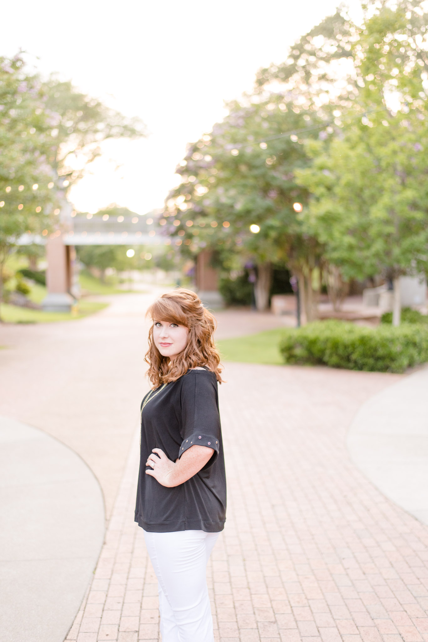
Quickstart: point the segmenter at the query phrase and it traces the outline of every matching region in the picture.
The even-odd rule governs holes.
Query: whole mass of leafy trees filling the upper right
[[[253,261],[257,308],[274,264],[298,278],[308,320],[323,285],[339,304],[350,279],[426,272],[424,7],[369,2],[361,26],[340,8],[189,145],[169,233],[190,256],[216,250],[226,278]]]

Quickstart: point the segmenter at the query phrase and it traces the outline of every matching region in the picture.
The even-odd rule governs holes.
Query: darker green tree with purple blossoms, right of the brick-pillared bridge
[[[223,123],[189,146],[177,169],[182,184],[164,216],[174,219],[169,233],[191,252],[215,249],[229,267],[237,256],[255,261],[256,304],[265,309],[272,263],[287,263],[306,279],[316,265],[316,242],[305,236],[293,204],[307,200],[294,178],[307,164],[300,133],[318,135],[318,118],[284,96],[244,98],[229,109]]]

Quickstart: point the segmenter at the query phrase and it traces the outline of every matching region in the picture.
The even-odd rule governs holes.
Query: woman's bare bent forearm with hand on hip
[[[213,448],[194,445],[187,449],[176,462],[171,461],[160,448],[153,448],[148,456],[146,475],[154,477],[157,482],[167,488],[179,486],[207,464],[214,453]]]

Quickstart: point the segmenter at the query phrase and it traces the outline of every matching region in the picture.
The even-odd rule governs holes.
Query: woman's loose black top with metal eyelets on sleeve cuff
[[[226,476],[216,375],[209,370],[189,370],[177,381],[153,390],[144,406],[146,397],[141,404],[135,521],[152,533],[223,530]],[[167,488],[146,475],[146,461],[153,448],[160,448],[175,461],[194,444],[212,448],[214,453],[187,482]]]

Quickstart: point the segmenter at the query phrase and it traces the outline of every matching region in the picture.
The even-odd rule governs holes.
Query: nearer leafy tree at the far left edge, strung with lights
[[[43,107],[42,85],[22,56],[0,58],[0,303],[6,259],[24,232],[47,233],[55,205]]]

